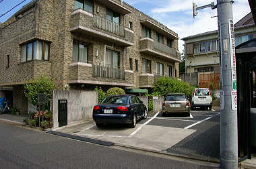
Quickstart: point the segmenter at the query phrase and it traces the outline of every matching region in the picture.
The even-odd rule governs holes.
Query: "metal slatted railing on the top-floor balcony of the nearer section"
[[[123,25],[95,14],[93,18],[93,26],[100,30],[116,34],[117,36],[125,37],[125,27]]]

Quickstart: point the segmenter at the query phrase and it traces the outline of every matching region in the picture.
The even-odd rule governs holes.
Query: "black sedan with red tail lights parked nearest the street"
[[[134,95],[108,96],[93,110],[97,127],[105,123],[127,123],[129,127],[135,127],[138,119],[146,119],[147,116],[146,105]]]

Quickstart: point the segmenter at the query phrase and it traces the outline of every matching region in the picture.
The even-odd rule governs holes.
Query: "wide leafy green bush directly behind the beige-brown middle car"
[[[183,82],[177,78],[160,77],[154,82],[152,96],[164,96],[168,93],[185,93],[191,97],[195,87],[191,87],[189,83]]]

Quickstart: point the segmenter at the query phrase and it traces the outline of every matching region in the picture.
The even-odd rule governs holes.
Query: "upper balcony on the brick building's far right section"
[[[181,62],[181,53],[178,50],[165,44],[154,42],[150,38],[141,38],[139,40],[139,52],[156,55],[172,62]]]

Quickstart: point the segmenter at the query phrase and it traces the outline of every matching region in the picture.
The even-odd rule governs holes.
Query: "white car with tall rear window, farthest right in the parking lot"
[[[191,109],[196,107],[212,110],[212,93],[210,89],[198,88],[193,91]]]

